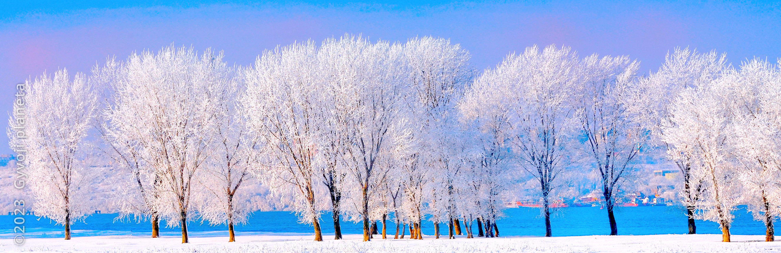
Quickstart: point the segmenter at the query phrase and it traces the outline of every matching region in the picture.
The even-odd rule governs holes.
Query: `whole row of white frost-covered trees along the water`
[[[161,221],[180,226],[183,243],[194,218],[227,225],[234,241],[256,185],[312,224],[316,241],[325,211],[335,239],[342,220],[362,223],[364,241],[384,239],[389,218],[394,238],[423,239],[424,222],[437,238],[474,237],[475,225],[495,237],[502,201],[526,180],[551,236],[552,201],[587,171],[618,234],[616,195],[640,156],[661,153],[684,175],[690,233],[694,219],[713,220],[729,241],[731,211],[747,203],[772,241],[776,66],[735,70],[715,53],[676,50],[638,77],[626,56],[535,46],[478,77],[469,57],[433,37],[307,41],[247,67],[168,47],[109,59],[89,77],[28,80],[9,137],[27,147],[34,211],[64,224],[66,239],[98,198],[96,180],[117,186],[104,194],[123,217],[150,222],[152,237]]]

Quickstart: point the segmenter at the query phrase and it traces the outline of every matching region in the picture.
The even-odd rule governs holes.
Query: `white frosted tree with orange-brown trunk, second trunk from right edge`
[[[728,83],[729,78],[722,78],[686,87],[672,102],[669,121],[662,123],[662,141],[672,145],[672,151],[690,151],[690,176],[701,182],[699,198],[684,199],[684,205],[694,207],[694,218],[719,223],[726,242],[732,212],[740,203],[736,162],[731,155],[734,147],[729,145],[733,117]]]

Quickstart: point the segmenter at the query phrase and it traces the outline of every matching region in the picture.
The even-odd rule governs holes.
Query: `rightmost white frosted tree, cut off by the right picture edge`
[[[774,241],[773,220],[781,215],[781,73],[768,62],[753,59],[740,71],[722,77],[724,99],[733,117],[728,144],[740,161],[735,166],[743,187],[743,202],[754,219],[765,223],[765,241]]]

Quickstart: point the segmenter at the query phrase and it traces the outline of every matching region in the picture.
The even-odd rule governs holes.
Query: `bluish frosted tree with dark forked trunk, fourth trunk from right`
[[[626,56],[597,55],[590,55],[581,64],[583,92],[577,97],[576,116],[585,140],[582,149],[600,175],[610,234],[617,235],[614,197],[622,180],[637,169],[633,162],[647,139],[647,131],[632,120],[626,105],[639,64]]]

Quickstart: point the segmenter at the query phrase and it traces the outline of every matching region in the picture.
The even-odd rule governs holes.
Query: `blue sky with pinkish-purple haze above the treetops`
[[[405,41],[450,38],[479,69],[531,45],[581,55],[629,55],[641,72],[675,47],[726,52],[733,64],[781,57],[781,4],[773,2],[249,2],[51,1],[0,3],[0,112],[14,86],[47,71],[88,72],[109,55],[166,45],[214,48],[248,65],[263,50],[342,34]],[[5,134],[0,154],[10,153]]]

